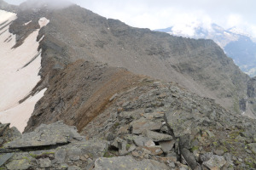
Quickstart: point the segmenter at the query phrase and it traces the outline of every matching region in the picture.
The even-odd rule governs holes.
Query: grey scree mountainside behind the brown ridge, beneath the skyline
[[[210,40],[185,39],[132,28],[75,5],[44,11],[43,8],[38,15],[46,16],[50,23],[41,31],[45,35],[41,43],[43,77],[48,74],[49,65],[63,67],[76,59],[86,59],[178,82],[229,109],[234,105],[237,108],[239,99],[245,98],[249,77]],[[29,10],[23,11],[26,16],[24,13]],[[52,55],[51,50],[60,55]]]

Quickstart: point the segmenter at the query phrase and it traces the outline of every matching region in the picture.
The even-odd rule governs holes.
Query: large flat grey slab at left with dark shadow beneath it
[[[24,133],[21,139],[15,139],[9,144],[4,144],[5,148],[22,149],[38,146],[48,146],[55,144],[67,144],[72,140],[83,140],[76,127],[69,127],[63,122],[55,122],[50,125],[42,124],[32,133]]]

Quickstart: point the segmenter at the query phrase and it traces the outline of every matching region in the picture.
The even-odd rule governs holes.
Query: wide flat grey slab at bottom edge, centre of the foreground
[[[167,170],[166,164],[154,160],[136,161],[131,156],[119,156],[112,158],[101,157],[95,161],[94,170],[103,169],[147,169],[147,170]]]

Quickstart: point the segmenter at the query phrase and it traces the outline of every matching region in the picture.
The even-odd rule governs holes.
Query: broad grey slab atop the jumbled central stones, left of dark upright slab
[[[144,120],[142,122],[137,121],[132,123],[132,133],[141,134],[143,130],[160,130],[162,122],[148,122]]]

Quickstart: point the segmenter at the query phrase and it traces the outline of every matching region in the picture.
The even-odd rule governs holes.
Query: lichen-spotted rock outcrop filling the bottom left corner
[[[63,122],[41,125],[3,145],[1,169],[92,169],[107,142],[86,141]]]

